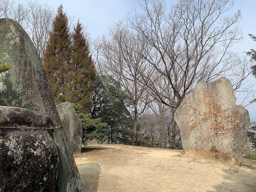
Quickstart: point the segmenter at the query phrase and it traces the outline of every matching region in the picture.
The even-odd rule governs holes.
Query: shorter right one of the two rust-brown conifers
[[[83,26],[77,21],[72,35],[72,56],[69,65],[70,86],[68,101],[79,103],[88,110],[92,94],[92,81],[96,74],[95,66],[90,55],[87,39],[84,37]]]

